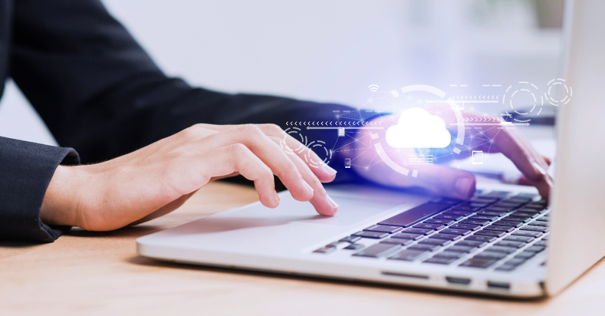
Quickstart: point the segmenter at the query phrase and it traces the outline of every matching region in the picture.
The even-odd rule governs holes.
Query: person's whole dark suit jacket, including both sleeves
[[[195,123],[286,127],[348,109],[166,77],[98,0],[0,0],[0,79],[8,77],[62,147],[0,137],[0,240],[59,237],[65,228],[45,225],[39,212],[60,163],[111,159]]]

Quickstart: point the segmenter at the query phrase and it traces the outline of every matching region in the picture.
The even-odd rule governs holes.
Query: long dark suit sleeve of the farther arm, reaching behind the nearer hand
[[[13,42],[11,76],[57,142],[76,148],[83,163],[129,153],[195,123],[286,127],[289,120],[332,119],[333,110],[348,110],[218,93],[166,77],[96,0],[15,2]]]

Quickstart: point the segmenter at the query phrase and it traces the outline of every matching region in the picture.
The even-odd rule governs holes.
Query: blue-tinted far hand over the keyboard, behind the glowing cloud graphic
[[[445,120],[446,126],[449,126],[452,122],[456,122],[456,116],[451,109],[435,107],[430,112],[433,112],[431,114],[439,113]],[[481,114],[470,111],[463,113],[463,117],[483,118]],[[396,124],[397,118],[398,116],[385,116],[376,119],[376,121],[382,121],[382,126],[388,127]],[[463,159],[468,157],[472,150],[503,153],[523,173],[524,178],[520,180],[520,184],[534,185],[540,195],[548,199],[549,179],[535,165],[540,166],[542,170],[548,170],[551,161],[538,154],[517,128],[499,129],[497,128],[497,124],[494,123],[493,127],[482,125],[481,130],[475,129],[471,125],[471,129],[466,131],[473,135],[473,137],[477,137],[476,140],[479,141],[473,142],[470,145],[472,147],[470,150],[452,155],[456,155],[456,159]],[[399,188],[420,187],[440,196],[454,199],[465,200],[473,195],[476,179],[472,173],[438,164],[408,165],[408,155],[414,153],[413,150],[389,146],[385,141],[384,130],[372,130],[371,133],[378,133],[379,137],[372,139],[370,133],[368,133],[366,136],[359,137],[358,141],[352,142],[349,146],[352,147],[353,153],[359,155],[355,158],[355,165],[357,166],[355,170],[365,179],[385,186]],[[469,145],[469,140],[471,139],[469,134],[466,135],[465,145]],[[455,134],[453,135],[455,136]],[[381,143],[385,153],[393,162],[410,170],[408,176],[393,171],[386,163],[381,162],[378,153],[374,149],[376,142]],[[462,146],[462,148],[465,149],[466,147]],[[360,166],[362,168],[359,168]],[[363,168],[364,166],[367,166],[367,168]],[[418,176],[412,177],[411,170],[418,170]]]

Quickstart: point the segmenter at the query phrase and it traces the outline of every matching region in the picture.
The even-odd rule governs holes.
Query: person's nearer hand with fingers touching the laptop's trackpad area
[[[306,154],[318,168],[305,163]],[[59,166],[40,216],[49,225],[109,231],[171,212],[206,183],[237,174],[254,181],[269,208],[280,203],[275,174],[319,214],[338,210],[321,184],[336,171],[277,125],[198,124],[116,159]]]

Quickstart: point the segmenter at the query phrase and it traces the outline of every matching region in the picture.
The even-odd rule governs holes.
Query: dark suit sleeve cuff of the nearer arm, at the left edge
[[[76,151],[0,137],[0,240],[53,242],[65,227],[40,220],[42,199],[60,163],[77,164]]]

